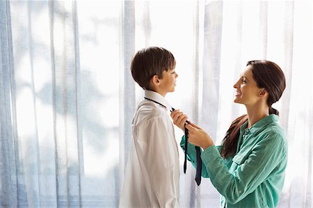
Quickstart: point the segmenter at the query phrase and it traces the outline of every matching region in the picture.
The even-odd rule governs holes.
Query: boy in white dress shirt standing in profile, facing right
[[[164,98],[175,90],[178,75],[170,51],[149,47],[131,61],[131,74],[145,99],[132,121],[133,141],[120,195],[120,207],[178,207],[179,157],[172,111]]]

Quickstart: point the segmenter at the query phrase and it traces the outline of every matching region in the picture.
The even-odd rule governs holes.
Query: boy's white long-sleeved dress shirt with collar
[[[133,141],[119,207],[179,207],[179,157],[171,106],[145,90],[132,121]],[[162,106],[163,105],[163,106]]]

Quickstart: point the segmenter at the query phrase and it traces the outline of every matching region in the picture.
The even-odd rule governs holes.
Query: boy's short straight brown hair
[[[173,69],[176,65],[174,56],[162,47],[148,47],[136,53],[131,61],[131,75],[144,90],[149,90],[150,79],[157,75],[162,79],[162,72]]]

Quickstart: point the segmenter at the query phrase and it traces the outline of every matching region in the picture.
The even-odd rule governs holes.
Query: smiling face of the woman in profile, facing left
[[[252,65],[246,67],[239,80],[234,84],[234,88],[236,89],[235,103],[253,106],[259,101],[259,93],[262,88],[258,88],[255,79],[253,79]]]

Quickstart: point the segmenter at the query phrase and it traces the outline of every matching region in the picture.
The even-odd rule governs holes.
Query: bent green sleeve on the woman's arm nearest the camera
[[[251,147],[248,154],[236,154],[232,158],[231,170],[215,145],[204,150],[201,158],[207,164],[205,167],[212,184],[230,204],[235,204],[255,191],[286,154],[284,138],[272,133]]]

